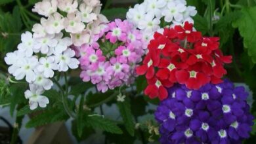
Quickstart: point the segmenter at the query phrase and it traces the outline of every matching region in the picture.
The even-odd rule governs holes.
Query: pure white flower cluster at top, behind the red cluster
[[[196,13],[196,7],[187,7],[185,0],[145,0],[129,9],[126,17],[143,31],[144,40],[149,43],[154,32],[163,31],[161,22],[169,26],[183,25],[186,21],[193,23],[191,16]]]

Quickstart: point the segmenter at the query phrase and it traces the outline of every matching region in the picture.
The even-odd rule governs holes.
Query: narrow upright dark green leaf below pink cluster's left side
[[[85,97],[81,96],[80,99],[80,103],[79,103],[79,109],[77,111],[77,120],[76,120],[76,124],[77,124],[77,134],[79,137],[82,136],[83,134],[83,103],[85,101]]]

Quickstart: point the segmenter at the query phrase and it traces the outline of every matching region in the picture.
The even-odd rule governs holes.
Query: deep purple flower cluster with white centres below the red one
[[[175,84],[156,113],[161,143],[242,143],[253,116],[245,88],[232,82],[206,84],[199,90]]]

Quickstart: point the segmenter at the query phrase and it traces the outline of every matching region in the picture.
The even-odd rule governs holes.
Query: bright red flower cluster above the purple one
[[[193,31],[193,24],[156,32],[148,45],[143,64],[137,67],[138,75],[145,75],[148,87],[145,94],[150,98],[167,98],[167,90],[175,82],[197,90],[212,82],[223,82],[226,75],[224,63],[231,63],[231,56],[223,56],[218,37],[202,37]]]

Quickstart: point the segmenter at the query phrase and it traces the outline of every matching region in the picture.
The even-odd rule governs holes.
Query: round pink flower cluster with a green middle
[[[81,79],[106,92],[134,82],[135,67],[145,54],[139,30],[127,20],[110,22],[90,44],[75,47],[81,63]]]

